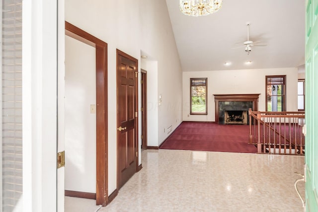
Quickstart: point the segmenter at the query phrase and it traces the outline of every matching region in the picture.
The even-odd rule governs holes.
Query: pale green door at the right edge
[[[318,211],[318,1],[306,7],[306,211]]]

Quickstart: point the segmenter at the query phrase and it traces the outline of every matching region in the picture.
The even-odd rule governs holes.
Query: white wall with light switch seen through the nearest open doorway
[[[96,193],[95,48],[65,36],[65,190]]]

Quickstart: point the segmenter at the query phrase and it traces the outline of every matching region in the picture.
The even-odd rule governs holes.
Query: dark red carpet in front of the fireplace
[[[248,134],[248,125],[182,122],[159,148],[256,153]]]

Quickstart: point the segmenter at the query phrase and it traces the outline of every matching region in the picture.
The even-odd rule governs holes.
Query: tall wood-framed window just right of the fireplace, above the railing
[[[286,111],[286,75],[266,76],[266,111]]]

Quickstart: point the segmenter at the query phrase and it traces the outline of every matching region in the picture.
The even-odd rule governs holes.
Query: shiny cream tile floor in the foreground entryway
[[[303,156],[145,150],[143,169],[98,212],[302,212],[294,172],[303,174],[303,164]],[[78,212],[80,199],[68,199],[66,212]]]

